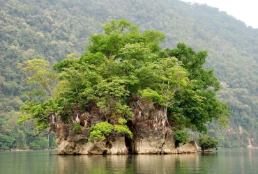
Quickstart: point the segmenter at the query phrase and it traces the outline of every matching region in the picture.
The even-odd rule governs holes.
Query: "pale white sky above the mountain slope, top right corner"
[[[219,8],[227,14],[236,17],[248,26],[258,28],[257,0],[181,0],[186,2],[206,3]]]

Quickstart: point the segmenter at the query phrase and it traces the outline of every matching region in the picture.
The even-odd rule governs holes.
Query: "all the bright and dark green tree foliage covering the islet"
[[[54,113],[72,124],[73,112],[83,112],[85,103],[92,102],[106,122],[90,127],[89,141],[103,140],[113,130],[132,138],[125,124],[133,116],[130,97],[138,96],[158,104],[169,120],[179,124],[177,129],[205,132],[206,122],[212,120],[227,125],[229,108],[215,98],[218,80],[213,70],[202,68],[207,52],[196,53],[181,43],[176,49],[162,50],[159,43],[164,34],[139,33],[138,26],[124,19],[111,20],[103,29],[104,34],[91,35],[85,54],[54,65],[56,73],[43,60],[20,64],[29,72],[27,84],[38,87],[32,93],[43,97],[48,93],[49,98],[43,103],[25,102],[19,122],[33,118],[38,128],[47,128],[46,117]],[[74,125],[73,131],[78,127]]]

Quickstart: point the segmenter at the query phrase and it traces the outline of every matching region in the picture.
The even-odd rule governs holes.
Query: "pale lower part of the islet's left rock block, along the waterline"
[[[59,152],[56,155],[128,154],[124,134],[113,132],[109,139],[105,141],[89,142],[89,129],[73,134],[71,129],[67,129],[69,126],[63,124],[54,129],[56,143],[59,147]]]

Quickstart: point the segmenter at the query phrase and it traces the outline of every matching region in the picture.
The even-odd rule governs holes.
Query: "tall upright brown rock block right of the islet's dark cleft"
[[[132,153],[175,153],[174,132],[168,128],[167,111],[154,104],[137,100],[131,104]]]

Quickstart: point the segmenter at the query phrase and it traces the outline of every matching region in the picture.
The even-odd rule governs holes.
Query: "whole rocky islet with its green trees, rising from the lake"
[[[212,120],[227,125],[229,108],[215,98],[218,79],[202,68],[206,51],[183,43],[161,49],[164,34],[139,33],[123,19],[103,29],[89,38],[85,54],[69,54],[54,70],[40,59],[20,65],[35,86],[31,93],[48,99],[25,102],[19,122],[50,126],[56,155],[197,152],[195,141],[177,132],[205,132]]]

